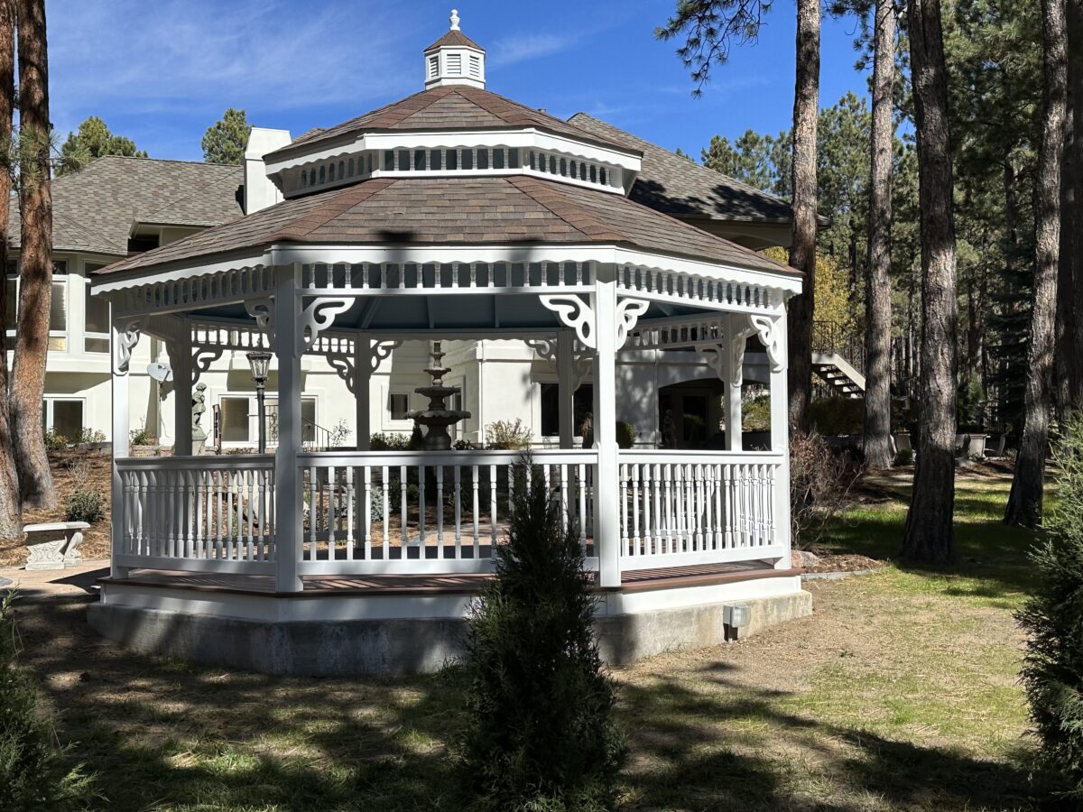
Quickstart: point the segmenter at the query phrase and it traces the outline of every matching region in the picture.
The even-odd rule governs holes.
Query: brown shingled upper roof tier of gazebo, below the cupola
[[[264,156],[268,162],[288,158],[315,144],[340,140],[353,141],[363,132],[402,130],[472,130],[508,127],[536,127],[579,141],[628,149],[618,142],[590,130],[550,116],[501,95],[465,84],[448,84],[423,90],[392,104],[325,130],[306,133],[291,144]],[[618,131],[619,132],[619,131]],[[638,154],[637,147],[631,152]]]

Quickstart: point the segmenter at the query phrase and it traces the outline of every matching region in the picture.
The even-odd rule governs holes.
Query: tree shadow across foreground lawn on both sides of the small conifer
[[[17,620],[62,741],[97,774],[100,808],[462,809],[447,750],[462,722],[454,670],[236,672],[127,652],[91,631],[83,612],[24,604]],[[982,761],[796,715],[791,694],[749,687],[733,671],[713,663],[691,683],[617,672],[632,751],[627,809],[1032,809],[1047,788],[1028,783],[1021,760]]]

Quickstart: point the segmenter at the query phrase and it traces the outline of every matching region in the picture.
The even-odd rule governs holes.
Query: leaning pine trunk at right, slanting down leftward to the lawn
[[[1042,521],[1045,451],[1053,397],[1053,340],[1057,313],[1057,258],[1060,248],[1060,169],[1065,148],[1065,96],[1068,88],[1065,0],[1042,0],[1044,110],[1042,146],[1034,184],[1034,298],[1027,349],[1022,442],[1007,524],[1035,527]]]

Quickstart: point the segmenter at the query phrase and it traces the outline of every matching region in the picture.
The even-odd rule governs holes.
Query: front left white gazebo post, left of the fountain
[[[274,352],[278,358],[278,447],[275,450],[275,591],[300,592],[301,300],[300,265],[275,269]]]

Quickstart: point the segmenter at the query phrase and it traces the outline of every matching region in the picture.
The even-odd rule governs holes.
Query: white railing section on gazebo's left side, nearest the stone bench
[[[274,457],[140,457],[115,460],[120,566],[271,573]]]

